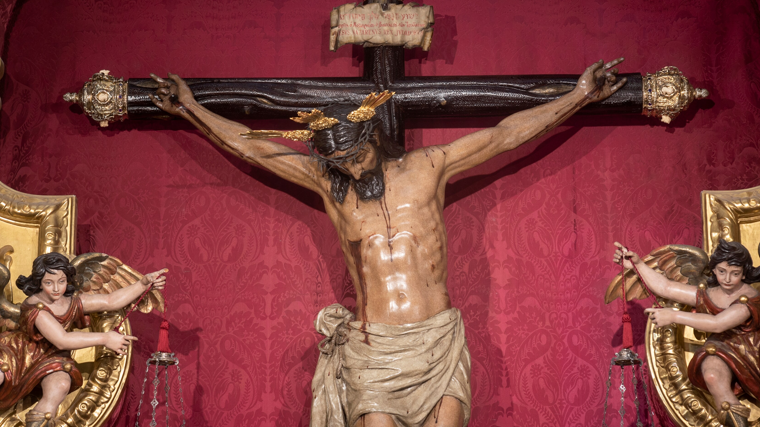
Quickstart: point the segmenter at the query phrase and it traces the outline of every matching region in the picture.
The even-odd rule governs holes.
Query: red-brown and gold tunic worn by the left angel
[[[34,326],[41,311],[50,313],[67,332],[89,325],[89,317],[82,309],[82,300],[76,294],[63,316],[56,316],[42,303],[29,304],[24,301],[18,329],[0,334],[0,363],[8,367],[4,373],[5,381],[0,385],[0,412],[15,405],[53,372],[64,371],[71,376],[69,392],[82,386],[82,374],[71,358],[71,351],[58,349]]]

